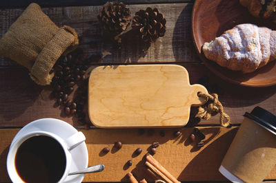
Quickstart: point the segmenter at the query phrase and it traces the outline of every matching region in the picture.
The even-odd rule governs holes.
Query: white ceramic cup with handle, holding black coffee
[[[34,136],[48,136],[56,140],[57,142],[59,142],[59,144],[61,145],[65,153],[65,158],[66,158],[65,171],[63,172],[63,175],[61,176],[59,182],[63,182],[64,180],[66,180],[66,177],[68,176],[68,173],[70,171],[70,165],[72,161],[72,155],[70,151],[75,147],[77,147],[79,144],[81,144],[81,142],[84,142],[86,140],[86,137],[83,135],[81,131],[74,133],[72,136],[66,139],[61,138],[55,133],[51,133],[49,131],[41,131],[41,130],[30,131],[20,136],[20,138],[17,138],[17,140],[12,142],[10,146],[10,150],[8,152],[8,158],[7,158],[8,175],[10,176],[10,179],[12,180],[12,182],[23,182],[23,180],[17,173],[17,169],[15,166],[15,157],[17,155],[17,150],[19,149],[21,144]]]

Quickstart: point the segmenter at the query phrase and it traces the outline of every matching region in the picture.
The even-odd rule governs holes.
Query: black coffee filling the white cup
[[[57,140],[33,136],[17,149],[15,167],[24,182],[58,182],[66,168],[66,154]]]

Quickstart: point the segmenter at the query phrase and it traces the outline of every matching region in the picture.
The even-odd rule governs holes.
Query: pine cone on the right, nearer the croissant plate
[[[132,20],[132,28],[139,28],[139,34],[143,41],[154,42],[157,38],[164,36],[166,32],[166,19],[159,13],[157,8],[146,8],[135,13]]]

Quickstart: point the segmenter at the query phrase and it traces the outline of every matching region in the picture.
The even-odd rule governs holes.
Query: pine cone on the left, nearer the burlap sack
[[[124,3],[107,2],[101,8],[98,19],[104,30],[112,34],[119,34],[126,30],[130,23],[130,10]]]

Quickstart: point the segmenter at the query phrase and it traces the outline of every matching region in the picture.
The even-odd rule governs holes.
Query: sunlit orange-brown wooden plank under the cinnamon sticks
[[[189,140],[193,128],[181,129],[181,136],[175,138],[173,129],[165,129],[166,136],[159,135],[160,130],[154,133],[139,134],[135,129],[90,129],[81,130],[86,136],[88,147],[88,166],[102,163],[106,166],[101,173],[88,173],[83,182],[127,182],[126,173],[132,171],[137,180],[150,179],[144,166],[147,149],[152,142],[160,143],[154,158],[160,162],[179,181],[226,181],[226,178],[218,171],[221,160],[232,142],[237,127],[230,129],[219,127],[203,127],[201,131],[206,134],[201,149],[194,147]],[[0,182],[9,182],[6,171],[6,156],[12,138],[19,129],[0,130]],[[115,141],[123,143],[121,149],[113,147]],[[102,149],[108,147],[110,152],[102,153]],[[134,155],[137,149],[143,149],[140,155]],[[132,166],[126,166],[126,162],[132,160]],[[276,167],[275,167],[276,168]],[[273,169],[266,177],[268,180],[276,179],[276,169]]]

